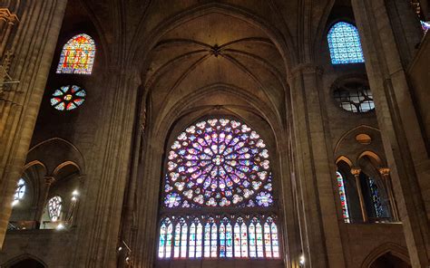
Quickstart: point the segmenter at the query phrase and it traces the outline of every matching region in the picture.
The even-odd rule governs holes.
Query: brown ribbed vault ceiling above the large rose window
[[[285,81],[285,63],[267,34],[214,12],[161,37],[151,51],[144,87],[150,92],[155,122],[172,121],[191,110],[215,109],[251,112],[280,126]]]

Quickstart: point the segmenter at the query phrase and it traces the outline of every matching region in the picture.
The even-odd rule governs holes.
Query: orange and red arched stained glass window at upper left
[[[64,44],[57,73],[91,74],[95,56],[95,43],[87,34],[73,36]]]

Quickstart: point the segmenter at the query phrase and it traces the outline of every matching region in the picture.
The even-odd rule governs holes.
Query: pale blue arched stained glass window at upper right
[[[327,34],[332,64],[365,62],[357,27],[346,22],[334,24]]]

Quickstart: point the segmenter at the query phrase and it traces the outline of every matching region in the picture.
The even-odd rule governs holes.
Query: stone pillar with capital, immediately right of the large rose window
[[[335,160],[320,76],[321,70],[311,64],[298,65],[289,75],[303,252],[306,267],[345,267],[339,231],[343,219],[335,196]]]

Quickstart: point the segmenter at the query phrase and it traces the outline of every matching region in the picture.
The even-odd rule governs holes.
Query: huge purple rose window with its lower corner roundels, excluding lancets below
[[[238,120],[200,121],[181,133],[167,156],[164,206],[270,206],[269,152]]]

